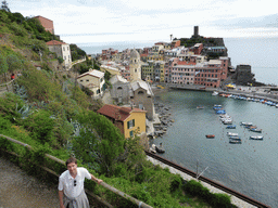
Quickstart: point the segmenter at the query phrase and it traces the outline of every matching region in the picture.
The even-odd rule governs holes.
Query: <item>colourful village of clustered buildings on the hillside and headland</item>
[[[52,21],[42,16],[35,18],[54,34]],[[68,43],[51,40],[47,46],[63,58],[64,70],[71,70],[74,64],[85,61],[72,62]],[[237,80],[242,80],[242,84],[254,80],[250,65],[239,65],[235,69],[224,40],[200,36],[199,26],[194,26],[190,39],[173,39],[170,35],[169,42],[156,42],[151,48],[122,52],[110,48],[102,50],[101,54],[88,54],[88,58],[94,60],[99,69],[90,68],[78,75],[76,81],[91,92],[93,100],[102,100],[104,106],[98,113],[118,127],[125,138],[135,134],[155,138],[174,122],[169,107],[154,103],[153,91],[157,89],[175,84],[217,90],[231,81],[228,76],[231,74]],[[111,77],[109,84],[104,80],[105,73]]]

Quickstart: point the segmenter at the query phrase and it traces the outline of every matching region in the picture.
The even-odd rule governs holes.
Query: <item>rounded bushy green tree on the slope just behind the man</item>
[[[97,171],[113,176],[124,153],[124,135],[109,119],[94,112],[81,114],[78,121],[81,128],[73,140],[75,155],[87,164],[97,161]]]

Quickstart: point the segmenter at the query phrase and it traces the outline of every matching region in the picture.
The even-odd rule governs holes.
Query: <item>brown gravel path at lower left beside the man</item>
[[[0,157],[0,208],[59,207],[58,187],[28,176]]]

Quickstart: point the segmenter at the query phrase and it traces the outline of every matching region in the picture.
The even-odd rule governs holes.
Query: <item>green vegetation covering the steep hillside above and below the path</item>
[[[206,190],[197,197],[202,193],[198,188],[203,190],[199,183],[185,183],[180,176],[146,160],[138,136],[126,140],[110,120],[96,113],[101,102],[92,101],[68,79],[70,75],[55,73],[53,54],[45,44],[51,36],[36,21],[0,10],[0,25],[1,73],[22,73],[14,81],[14,93],[0,98],[1,134],[33,146],[30,151],[0,136],[2,154],[17,154],[15,162],[42,177],[45,171],[37,166],[51,167],[58,173],[65,168],[46,158],[45,153],[62,160],[75,155],[81,166],[104,182],[153,207],[230,205],[226,195]],[[39,52],[43,54],[41,70],[30,62],[38,58]],[[94,65],[87,58],[75,69],[81,73]],[[136,207],[91,181],[86,182],[86,187],[115,207]]]

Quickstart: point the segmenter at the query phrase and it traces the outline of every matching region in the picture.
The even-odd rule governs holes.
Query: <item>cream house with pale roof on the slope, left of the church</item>
[[[104,92],[104,73],[96,69],[90,69],[87,73],[77,77],[77,82],[83,87],[88,88],[93,94],[93,98],[102,96]]]

